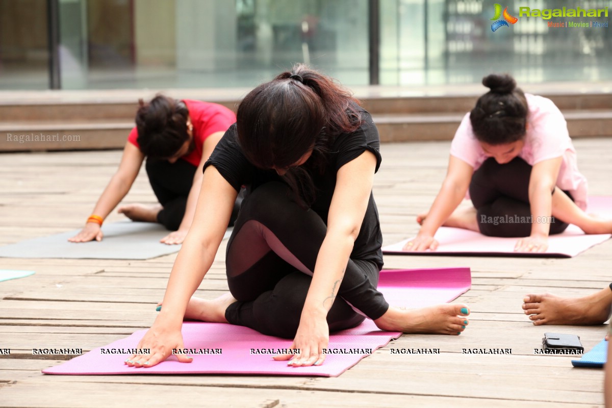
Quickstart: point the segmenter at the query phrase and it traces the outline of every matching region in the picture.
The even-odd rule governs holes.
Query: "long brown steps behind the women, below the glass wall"
[[[612,134],[612,84],[541,84],[525,89],[559,106],[573,138]],[[163,93],[216,102],[236,111],[248,91]],[[354,91],[375,118],[381,140],[400,142],[452,139],[484,88],[375,86]],[[154,95],[149,90],[0,92],[0,151],[120,149],[134,125],[138,100]]]

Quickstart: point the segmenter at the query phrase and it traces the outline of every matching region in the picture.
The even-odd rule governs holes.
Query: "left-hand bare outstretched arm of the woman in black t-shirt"
[[[154,366],[168,358],[173,348],[182,348],[181,326],[187,303],[214,261],[237,195],[214,166],[206,168],[192,228],[174,261],[163,308],[138,345],[139,349],[151,349],[151,355],[132,356],[140,365]],[[190,360],[179,357],[179,361]]]

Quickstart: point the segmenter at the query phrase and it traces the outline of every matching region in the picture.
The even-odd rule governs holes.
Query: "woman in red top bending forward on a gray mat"
[[[236,115],[216,103],[163,95],[141,102],[119,169],[84,228],[69,241],[102,240],[102,221],[127,195],[146,157],[147,175],[159,204],[127,204],[119,207],[119,213],[134,221],[163,224],[173,232],[161,242],[182,243],[193,220],[204,162],[234,122]]]

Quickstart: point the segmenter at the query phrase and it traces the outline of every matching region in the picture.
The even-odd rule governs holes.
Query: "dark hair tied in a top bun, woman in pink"
[[[528,106],[517,82],[510,75],[492,73],[482,78],[482,84],[490,91],[469,114],[476,139],[491,146],[523,139]]]

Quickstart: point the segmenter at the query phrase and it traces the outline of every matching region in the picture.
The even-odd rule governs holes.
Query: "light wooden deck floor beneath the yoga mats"
[[[444,177],[449,143],[385,144],[375,196],[384,242],[417,231]],[[612,194],[612,138],[575,141],[593,195]],[[0,245],[80,228],[118,165],[120,152],[0,155]],[[141,174],[126,201],[152,202]],[[119,220],[111,215],[111,220]],[[610,283],[612,240],[577,258],[387,256],[386,267],[468,266],[471,306],[461,336],[405,335],[337,378],[263,376],[45,376],[58,363],[34,347],[86,350],[149,327],[175,255],[149,261],[0,259],[0,269],[35,270],[0,283],[2,407],[591,407],[603,402],[603,371],[572,368],[568,356],[534,355],[544,332],[580,335],[590,349],[606,326],[534,327],[521,311],[526,292],[585,295]],[[213,281],[215,280],[215,281]],[[214,284],[212,284],[214,283]],[[200,295],[225,287],[218,256]],[[214,287],[217,290],[211,290]],[[439,348],[439,355],[392,355],[390,347]],[[461,354],[511,348],[512,355]]]

